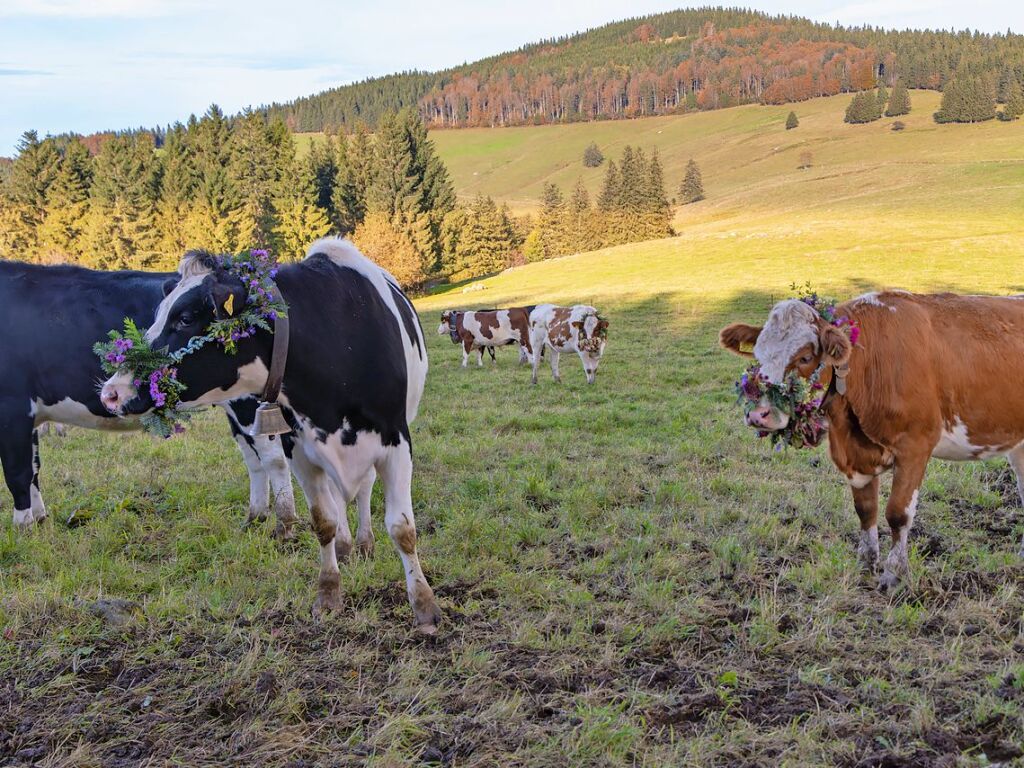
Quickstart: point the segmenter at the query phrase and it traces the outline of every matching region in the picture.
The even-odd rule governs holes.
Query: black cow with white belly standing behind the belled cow
[[[138,429],[116,419],[96,391],[102,372],[92,345],[125,317],[153,319],[175,273],[98,272],[76,266],[0,261],[0,463],[14,499],[14,524],[46,517],[39,492],[37,427],[48,422],[90,429]],[[291,536],[295,499],[281,440],[249,437],[255,401],[223,403],[249,469],[250,519],[272,505],[279,534]]]

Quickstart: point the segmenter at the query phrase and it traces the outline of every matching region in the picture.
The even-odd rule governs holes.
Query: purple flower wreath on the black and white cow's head
[[[145,329],[125,317],[123,331],[111,331],[108,333],[110,341],[93,346],[108,376],[128,374],[136,389],[143,382],[147,383],[154,408],[140,421],[147,432],[160,437],[183,432],[185,423],[191,418],[191,414],[180,407],[185,385],[177,378],[177,366],[185,356],[211,341],[220,344],[227,354],[234,354],[239,341],[255,336],[257,329],[273,333],[270,323],[287,315],[288,306],[274,291],[278,263],[266,251],[254,249],[248,254],[221,256],[217,266],[238,276],[248,295],[245,306],[238,312],[233,296],[229,297],[224,305],[228,316],[207,326],[203,336],[194,336],[172,354],[167,347],[154,349],[150,346],[145,341]]]

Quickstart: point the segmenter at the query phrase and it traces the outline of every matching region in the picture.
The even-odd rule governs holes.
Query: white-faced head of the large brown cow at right
[[[743,323],[726,326],[719,341],[730,352],[755,357],[761,375],[771,384],[781,384],[791,372],[809,379],[823,366],[842,366],[853,351],[842,329],[799,299],[780,301],[772,307],[764,327]],[[760,431],[773,432],[785,429],[790,415],[763,397],[746,415],[746,423]]]

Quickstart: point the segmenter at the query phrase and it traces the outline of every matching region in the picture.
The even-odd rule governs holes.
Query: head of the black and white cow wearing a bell
[[[215,321],[230,316],[246,305],[248,289],[236,274],[218,265],[215,256],[190,251],[181,260],[180,280],[157,306],[156,318],[145,333],[154,349],[166,348],[172,354],[188,342],[206,334]],[[258,338],[239,339],[236,354],[227,354],[220,344],[208,343],[182,357],[177,364],[177,378],[187,389],[183,404],[203,406],[222,402],[241,394],[260,391],[266,379],[266,367],[258,359]],[[129,374],[119,373],[100,389],[100,400],[114,414],[142,414],[153,407],[150,392],[135,387]]]

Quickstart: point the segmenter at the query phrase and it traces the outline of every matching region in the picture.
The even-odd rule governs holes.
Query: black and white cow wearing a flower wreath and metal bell
[[[219,316],[225,302],[244,306],[247,289],[210,254],[185,255],[177,287],[148,333],[155,347],[181,349]],[[292,469],[309,503],[321,545],[314,610],[342,604],[337,537],[351,542],[340,504],[374,470],[384,482],[385,526],[406,570],[419,629],[432,634],[440,612],[420,567],[413,516],[413,453],[409,425],[427,375],[426,345],[413,305],[386,271],[348,241],[329,238],[306,258],[281,267],[278,290],[288,303],[290,347],[280,401],[293,431],[286,436]],[[243,339],[233,355],[207,344],[184,357],[178,380],[185,407],[261,392],[269,375],[273,336]],[[115,413],[142,413],[153,402],[131,378],[111,377],[103,403]],[[343,507],[342,507],[343,509]],[[350,544],[349,544],[350,547]]]

